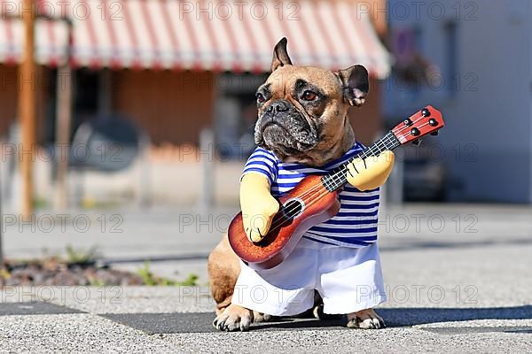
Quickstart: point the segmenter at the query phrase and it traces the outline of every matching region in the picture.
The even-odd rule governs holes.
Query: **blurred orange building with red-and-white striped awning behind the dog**
[[[17,19],[21,5],[9,4],[1,8],[0,18],[0,135],[4,140],[17,121],[18,63],[24,42]],[[273,47],[282,37],[287,37],[296,65],[368,68],[371,93],[363,108],[351,110],[351,119],[357,139],[372,142],[382,128],[379,83],[390,68],[389,54],[380,40],[386,35],[386,21],[371,14],[386,7],[384,0],[375,4],[378,9],[354,0],[35,1],[38,71],[35,78],[24,80],[37,91],[38,142],[51,146],[55,142],[56,105],[66,80],[58,67],[71,65],[72,134],[91,120],[121,116],[136,122],[152,142],[150,156],[165,158],[160,168],[153,167],[156,163],[151,166],[150,189],[160,189],[162,197],[173,192],[185,195],[191,190],[161,188],[199,180],[184,181],[188,174],[197,176],[200,167],[183,165],[182,152],[199,148],[202,129],[214,130],[216,146],[230,146],[216,156],[241,163],[253,149],[254,91],[270,71]],[[243,153],[231,148],[235,145]],[[188,158],[185,162],[199,165],[198,158]],[[158,172],[165,168],[172,173]],[[37,171],[53,171],[53,167]],[[52,184],[45,180],[39,187]],[[85,178],[86,189],[97,180]],[[94,189],[106,194],[101,190],[113,185],[129,195],[131,180],[122,176],[113,184],[105,175]],[[198,194],[196,187],[191,189],[193,193],[184,197],[187,203]]]

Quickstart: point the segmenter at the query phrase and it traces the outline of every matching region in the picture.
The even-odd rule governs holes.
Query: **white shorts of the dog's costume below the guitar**
[[[271,269],[240,261],[232,304],[274,316],[293,316],[314,304],[314,290],[325,313],[350,313],[386,301],[379,248],[327,245],[301,239],[292,254]]]

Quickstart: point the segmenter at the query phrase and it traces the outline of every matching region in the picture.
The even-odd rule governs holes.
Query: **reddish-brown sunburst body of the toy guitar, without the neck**
[[[289,193],[279,198],[281,207],[274,217],[270,232],[261,242],[249,241],[242,223],[242,213],[229,225],[229,242],[235,253],[246,263],[270,269],[281,263],[292,252],[309,230],[340,211],[336,191],[330,192],[321,184],[321,176],[309,176],[301,180]],[[286,212],[298,211],[293,218]]]

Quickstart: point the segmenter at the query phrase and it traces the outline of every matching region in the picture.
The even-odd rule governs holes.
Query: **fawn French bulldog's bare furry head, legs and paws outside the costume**
[[[273,50],[270,76],[256,91],[258,119],[254,141],[283,162],[325,165],[340,158],[355,143],[348,109],[364,104],[369,89],[368,71],[362,65],[338,72],[293,65],[283,38]],[[217,308],[214,325],[218,329],[246,330],[251,323],[270,318],[231,304],[239,272],[239,258],[224,235],[208,258],[210,287]],[[319,296],[315,303],[314,314],[319,317]],[[348,327],[384,326],[372,309],[349,313],[347,317]]]

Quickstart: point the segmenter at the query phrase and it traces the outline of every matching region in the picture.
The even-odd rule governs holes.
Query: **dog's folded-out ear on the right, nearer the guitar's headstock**
[[[351,105],[360,107],[370,92],[369,73],[363,65],[353,65],[338,72],[343,85],[344,99]]]

